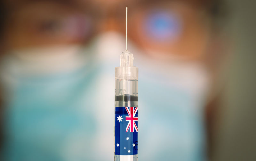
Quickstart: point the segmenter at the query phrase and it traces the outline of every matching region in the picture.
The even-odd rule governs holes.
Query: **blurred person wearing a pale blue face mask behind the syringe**
[[[220,46],[211,3],[7,3],[4,159],[113,159],[114,67],[128,5],[128,49],[140,69],[140,159],[205,160],[210,67],[220,62],[212,57]]]

